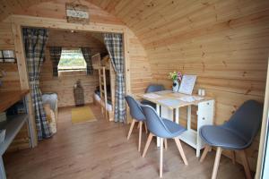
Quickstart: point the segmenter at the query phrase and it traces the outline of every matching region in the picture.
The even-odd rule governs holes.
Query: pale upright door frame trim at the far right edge
[[[262,122],[262,129],[260,135],[260,144],[259,144],[259,153],[258,159],[256,164],[256,179],[261,178],[261,170],[263,169],[263,161],[265,155],[265,135],[266,135],[266,128],[267,126],[267,117],[269,112],[269,58],[267,63],[267,81],[266,81],[266,88],[265,88],[265,104],[264,104],[264,115],[263,115],[263,122]]]

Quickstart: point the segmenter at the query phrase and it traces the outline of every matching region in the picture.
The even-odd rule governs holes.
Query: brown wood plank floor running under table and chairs
[[[159,178],[159,150],[152,143],[145,158],[137,151],[138,132],[129,141],[129,125],[109,123],[100,115],[99,107],[91,106],[98,121],[71,123],[71,109],[59,110],[58,132],[42,141],[35,149],[4,156],[8,178],[13,179],[92,179],[92,178]],[[136,129],[136,128],[135,128]],[[144,146],[146,136],[143,135]],[[184,166],[174,141],[164,150],[163,178],[210,178],[215,152],[210,152],[203,164],[195,150],[183,144],[188,166]],[[221,157],[218,178],[245,178],[243,167],[232,165]]]

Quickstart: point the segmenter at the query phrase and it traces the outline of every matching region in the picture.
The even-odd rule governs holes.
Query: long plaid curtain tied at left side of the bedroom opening
[[[51,136],[39,88],[39,70],[43,63],[47,38],[48,30],[23,28],[23,40],[29,72],[30,91],[39,140]]]

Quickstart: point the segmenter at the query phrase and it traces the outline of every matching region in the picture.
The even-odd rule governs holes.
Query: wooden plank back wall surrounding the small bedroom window
[[[90,47],[92,55],[106,52],[105,46],[91,33],[76,31],[72,33],[66,30],[49,30],[48,47]],[[60,72],[58,77],[52,76],[52,63],[48,48],[46,61],[40,72],[40,89],[44,92],[56,92],[58,94],[58,107],[74,106],[74,84],[82,81],[85,103],[93,102],[93,92],[98,86],[98,72],[86,75],[86,72]]]

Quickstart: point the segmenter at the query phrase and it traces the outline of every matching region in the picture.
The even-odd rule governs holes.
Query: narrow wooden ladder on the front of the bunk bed
[[[100,105],[101,111],[105,118],[107,119],[107,104],[108,104],[108,94],[107,94],[107,84],[106,84],[106,67],[100,66],[99,72],[99,83],[100,83]]]

